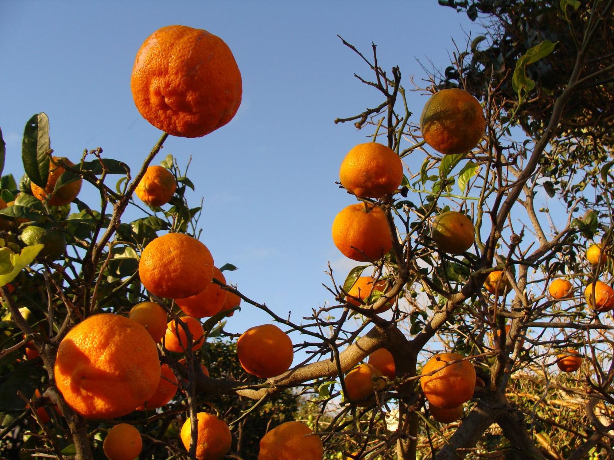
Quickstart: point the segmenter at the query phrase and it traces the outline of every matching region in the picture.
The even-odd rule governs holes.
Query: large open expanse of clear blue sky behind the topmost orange
[[[4,174],[18,179],[21,135],[34,113],[50,118],[56,155],[77,161],[102,147],[107,158],[139,167],[160,132],[144,120],[130,93],[134,56],[156,29],[181,24],[220,36],[243,77],[243,102],[226,126],[199,139],[169,137],[154,164],[168,153],[196,185],[191,205],[204,198],[201,240],[217,266],[246,296],[300,321],[332,296],[357,265],[333,245],[336,213],[354,201],[338,188],[338,170],[354,145],[373,129],[357,131],[337,117],[357,115],[381,102],[354,73],[371,79],[366,64],[337,34],[379,63],[398,65],[414,88],[425,72],[445,69],[454,50],[479,26],[434,0],[354,1],[7,1],[0,4],[0,128],[7,143]],[[410,94],[417,122],[427,96]],[[417,164],[407,164],[412,172]],[[84,183],[80,199],[93,205]],[[133,218],[136,214],[131,215]],[[129,216],[126,216],[130,218]],[[227,330],[268,322],[254,307],[230,318]]]

